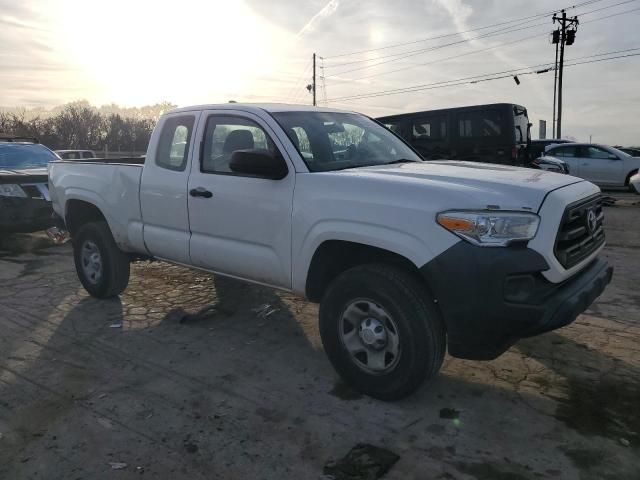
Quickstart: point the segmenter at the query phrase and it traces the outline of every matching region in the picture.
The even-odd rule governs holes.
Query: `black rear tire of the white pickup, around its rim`
[[[93,277],[83,266],[83,249],[89,246],[100,257],[101,272]],[[106,222],[91,222],[78,229],[73,238],[73,259],[78,278],[91,296],[111,298],[127,288],[130,260],[116,245]]]

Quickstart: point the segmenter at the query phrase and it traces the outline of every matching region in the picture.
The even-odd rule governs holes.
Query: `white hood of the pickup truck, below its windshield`
[[[361,167],[340,173],[457,189],[461,196],[471,200],[467,208],[491,205],[492,208],[535,211],[549,192],[584,181],[543,170],[455,160]]]

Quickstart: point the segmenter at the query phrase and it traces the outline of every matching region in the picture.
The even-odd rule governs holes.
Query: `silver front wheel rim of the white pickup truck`
[[[398,327],[379,304],[357,299],[340,317],[340,340],[351,359],[369,373],[392,370],[400,358]]]

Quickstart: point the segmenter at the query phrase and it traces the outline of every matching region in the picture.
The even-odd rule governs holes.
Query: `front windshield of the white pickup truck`
[[[273,116],[312,172],[422,161],[402,140],[363,115],[279,112]]]

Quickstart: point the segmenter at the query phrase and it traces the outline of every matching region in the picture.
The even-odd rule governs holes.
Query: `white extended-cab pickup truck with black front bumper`
[[[338,373],[401,398],[445,350],[493,359],[572,322],[611,280],[595,185],[423,161],[356,113],[206,105],[159,120],[140,164],[56,161],[54,209],[99,298],[159,259],[320,303]]]

